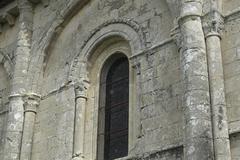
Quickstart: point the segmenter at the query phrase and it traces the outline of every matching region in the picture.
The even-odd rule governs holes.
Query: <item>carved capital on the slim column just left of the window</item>
[[[79,80],[74,84],[75,99],[84,98],[87,99],[87,89],[89,87],[88,80]]]

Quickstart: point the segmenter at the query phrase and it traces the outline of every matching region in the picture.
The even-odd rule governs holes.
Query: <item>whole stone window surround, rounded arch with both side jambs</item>
[[[71,71],[69,81],[77,83],[80,81],[89,81],[90,85],[87,89],[88,100],[86,102],[86,117],[94,117],[94,119],[86,120],[86,126],[92,126],[92,130],[89,128],[85,131],[85,136],[89,139],[89,135],[92,135],[90,139],[92,142],[84,143],[88,146],[83,148],[93,148],[89,153],[88,158],[95,159],[97,155],[98,140],[98,122],[100,113],[99,108],[99,92],[100,92],[100,74],[102,67],[107,59],[116,53],[123,53],[130,60],[133,55],[140,54],[146,49],[145,38],[142,33],[141,26],[136,22],[129,19],[113,19],[109,20],[102,25],[95,28],[84,41],[79,53],[76,54],[71,64]],[[129,114],[129,152],[134,148],[136,139],[139,136],[139,112],[136,105],[136,74],[132,68],[130,60],[130,114]],[[95,109],[94,109],[95,108]],[[95,110],[92,112],[91,110]],[[91,128],[91,127],[90,127]],[[88,133],[88,132],[90,133]]]

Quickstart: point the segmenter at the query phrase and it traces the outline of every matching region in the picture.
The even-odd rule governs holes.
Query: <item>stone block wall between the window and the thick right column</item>
[[[154,49],[147,57],[141,57],[142,138],[137,146],[138,154],[183,143],[179,62],[173,42]]]

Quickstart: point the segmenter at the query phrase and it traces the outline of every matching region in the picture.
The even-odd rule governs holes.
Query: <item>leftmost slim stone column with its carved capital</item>
[[[40,96],[32,94],[24,97],[24,125],[20,160],[31,160],[33,133]]]

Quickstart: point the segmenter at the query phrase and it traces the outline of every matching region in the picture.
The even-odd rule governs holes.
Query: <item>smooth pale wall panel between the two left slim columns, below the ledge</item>
[[[37,110],[32,159],[71,159],[74,96],[70,87],[43,97]]]

